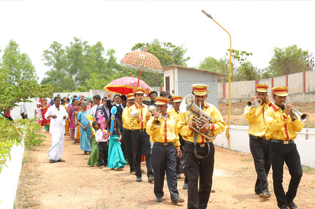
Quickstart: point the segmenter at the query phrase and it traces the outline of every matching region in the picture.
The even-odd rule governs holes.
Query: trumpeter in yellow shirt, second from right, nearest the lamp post
[[[272,106],[270,97],[267,94],[269,88],[265,84],[256,84],[256,95],[252,97],[252,107],[246,106],[244,117],[250,122],[248,134],[250,136],[250,149],[252,158],[254,159],[257,179],[255,183],[255,193],[259,194],[260,198],[270,198],[268,189],[267,176],[271,167],[271,158],[269,154],[270,141],[265,137],[264,113]],[[260,103],[255,106],[254,101]]]

